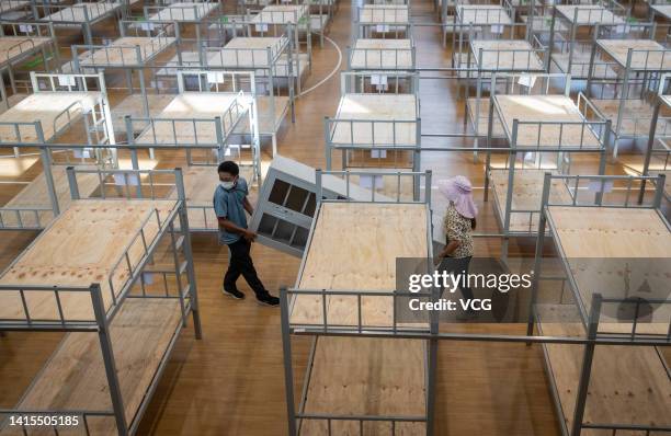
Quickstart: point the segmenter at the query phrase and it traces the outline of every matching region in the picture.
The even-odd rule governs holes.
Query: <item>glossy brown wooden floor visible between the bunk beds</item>
[[[341,50],[351,45],[353,8],[340,1],[340,10],[328,36]],[[411,20],[436,21],[430,1],[412,2]],[[112,27],[112,24],[110,24]],[[450,65],[450,53],[441,45],[440,27],[417,27],[413,39],[422,67]],[[338,53],[329,44],[314,45],[314,65],[304,90],[321,81],[337,67]],[[341,66],[344,68],[344,62]],[[123,76],[123,74],[122,74]],[[123,77],[122,77],[123,81]],[[109,82],[112,87],[113,81]],[[464,102],[456,100],[456,89],[442,80],[421,83],[422,133],[459,131],[464,124]],[[436,95],[443,95],[436,99]],[[296,104],[296,124],[287,119],[278,133],[280,152],[316,168],[325,167],[323,117],[333,116],[340,96],[338,76],[300,96]],[[113,96],[111,96],[113,100]],[[428,139],[427,146],[439,139]],[[457,142],[455,140],[455,142]],[[423,142],[424,144],[424,142]],[[268,150],[270,147],[266,147]],[[179,156],[178,156],[179,154]],[[146,157],[140,157],[146,158]],[[264,167],[270,157],[264,152]],[[590,167],[595,158],[581,158],[575,164]],[[159,168],[183,164],[183,153],[162,153]],[[27,182],[39,172],[35,164],[25,170],[0,173],[0,182]],[[474,163],[473,153],[423,152],[422,169],[432,169],[434,177],[464,174],[476,187],[480,207],[479,231],[498,230],[492,203],[482,202],[482,161]],[[622,174],[610,165],[609,173]],[[0,185],[0,204],[20,187]],[[444,202],[435,195],[434,214],[440,216]],[[434,219],[435,220],[435,219]],[[36,236],[34,232],[3,232],[0,267],[5,267]],[[255,303],[244,282],[240,289],[248,299],[236,301],[221,295],[220,285],[227,266],[227,249],[214,234],[195,234],[193,252],[198,285],[203,340],[193,339],[192,326],[178,341],[166,372],[139,427],[139,435],[281,436],[286,431],[286,409],[280,335],[280,311]],[[511,242],[511,252],[528,249],[528,242]],[[476,241],[479,255],[498,254],[499,239]],[[296,280],[299,260],[259,244],[252,256],[265,286],[275,291]],[[507,333],[523,330],[505,326]],[[50,333],[11,333],[0,337],[0,406],[18,403],[22,393],[56,348],[61,335]],[[294,340],[296,380],[302,380],[309,341]],[[300,386],[296,382],[296,389]],[[544,372],[542,348],[502,343],[444,342],[439,349],[437,435],[478,436],[555,436],[559,426],[555,416],[549,383]]]

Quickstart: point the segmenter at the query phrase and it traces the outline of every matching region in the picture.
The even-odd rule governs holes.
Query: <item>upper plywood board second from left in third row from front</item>
[[[96,49],[79,55],[80,66],[124,66],[140,65],[151,59],[174,44],[174,37],[143,37],[124,36],[107,45],[107,49]],[[140,47],[140,57],[137,57],[136,47]]]

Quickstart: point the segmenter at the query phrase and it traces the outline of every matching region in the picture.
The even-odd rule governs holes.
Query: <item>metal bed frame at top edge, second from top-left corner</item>
[[[81,10],[83,11],[83,21],[80,21],[75,16],[75,12],[71,8],[79,8],[80,5],[84,5],[84,4],[95,4],[95,9],[98,11],[100,11],[101,8],[105,9],[104,7],[101,7],[101,4],[102,5],[110,4],[113,7],[109,10],[101,12],[94,18],[90,18],[88,8],[81,8]],[[58,5],[54,3],[37,3],[35,1],[33,1],[32,3],[33,15],[38,21],[49,22],[54,25],[54,27],[79,27],[81,26],[83,28],[83,37],[84,37],[86,44],[93,44],[93,33],[92,33],[93,25],[107,19],[111,15],[117,15],[117,20],[121,20],[122,16],[120,16],[120,14],[123,15],[123,11],[122,11],[123,5],[124,3],[122,2],[116,2],[116,1],[110,2],[105,0],[91,1],[91,2],[82,1],[82,2],[78,2],[75,4],[67,4],[67,5]],[[67,20],[66,18],[61,20],[47,19],[50,14],[61,12],[61,11],[69,11],[69,14],[66,18],[71,16],[71,20]]]

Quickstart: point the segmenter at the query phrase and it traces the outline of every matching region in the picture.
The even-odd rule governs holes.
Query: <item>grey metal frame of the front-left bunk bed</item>
[[[89,172],[78,171],[73,168],[68,168],[68,179],[70,182],[70,190],[72,198],[86,200],[87,198],[79,198],[77,190],[77,173]],[[153,176],[159,174],[173,175],[175,180],[177,191],[180,194],[177,200],[178,207],[172,210],[169,216],[161,217],[157,209],[153,209],[147,217],[143,218],[143,226],[138,232],[135,233],[133,241],[143,241],[144,251],[137,266],[134,268],[130,266],[128,261],[128,251],[130,250],[129,244],[115,263],[113,271],[121,271],[126,268],[128,272],[128,279],[124,283],[123,287],[116,291],[110,283],[110,291],[112,296],[112,303],[110,308],[105,308],[103,303],[103,296],[101,285],[93,283],[90,285],[82,286],[26,286],[26,285],[0,285],[0,292],[15,292],[21,295],[21,298],[25,300],[26,296],[36,295],[41,292],[47,292],[54,295],[55,301],[58,302],[59,311],[58,314],[50,319],[35,319],[31,317],[27,306],[24,305],[24,319],[21,320],[0,320],[0,331],[53,331],[53,332],[91,332],[98,333],[100,339],[100,347],[102,352],[102,359],[105,367],[105,374],[107,379],[107,386],[110,389],[110,397],[112,400],[111,411],[22,411],[15,409],[0,410],[0,416],[7,418],[11,415],[16,414],[36,414],[36,415],[54,415],[54,414],[76,414],[82,417],[82,424],[86,434],[89,435],[88,420],[94,416],[110,416],[115,420],[116,428],[120,435],[134,434],[137,431],[141,416],[149,404],[151,397],[157,388],[157,385],[161,378],[161,375],[166,368],[166,365],[170,358],[170,355],[177,343],[180,331],[186,326],[189,314],[193,317],[194,331],[196,340],[202,337],[201,318],[198,312],[197,302],[197,290],[195,282],[195,269],[193,265],[193,255],[191,251],[191,238],[189,234],[189,221],[186,216],[186,209],[184,204],[184,186],[182,182],[182,174],[180,169],[172,170],[156,170],[156,171],[138,171],[138,170],[95,170],[102,181],[111,176],[121,176],[127,180],[127,177],[135,177],[140,180],[140,175],[148,175],[148,186],[151,194],[147,198],[158,198],[155,196],[156,191],[153,190]],[[133,190],[134,191],[134,190]],[[120,197],[126,199],[135,198],[132,190],[128,187],[125,192],[120,193]],[[103,190],[103,198],[104,190]],[[110,199],[113,200],[113,199]],[[151,220],[156,220],[158,223],[159,231],[152,241],[147,241],[145,236],[145,226]],[[48,231],[48,228],[47,228]],[[152,267],[152,255],[156,252],[159,242],[163,238],[170,239],[170,251],[173,253],[174,267],[172,268],[156,268]],[[39,237],[35,240],[39,240]],[[30,246],[35,244],[35,241]],[[29,246],[29,249],[30,249]],[[27,249],[26,249],[27,250]],[[180,254],[181,253],[181,254]],[[180,255],[183,261],[180,260]],[[12,265],[18,262],[15,260]],[[11,267],[11,265],[10,265]],[[8,267],[9,268],[9,267]],[[163,295],[147,295],[145,290],[145,273],[157,274],[163,279],[160,280],[163,284]],[[186,280],[183,275],[186,274]],[[174,277],[177,285],[177,291],[170,290],[168,280]],[[158,280],[157,280],[158,282]],[[185,283],[184,283],[185,282]],[[137,289],[139,284],[140,289]],[[91,297],[91,307],[93,309],[94,318],[88,320],[76,320],[68,319],[62,309],[60,309],[60,295],[68,292],[81,292],[89,294]],[[129,298],[170,298],[179,299],[181,308],[181,322],[178,323],[178,328],[174,331],[172,339],[168,344],[166,353],[162,355],[156,374],[149,385],[146,394],[138,408],[137,413],[132,422],[126,421],[124,410],[124,399],[121,391],[121,385],[116,371],[116,360],[114,357],[114,351],[112,348],[112,340],[110,334],[110,328],[114,322],[115,315],[118,313],[124,301]],[[66,381],[67,382],[67,381]],[[29,388],[30,390],[30,388]],[[4,418],[2,421],[4,421]],[[25,432],[26,428],[23,427]],[[54,434],[58,434],[56,427],[54,427]]]

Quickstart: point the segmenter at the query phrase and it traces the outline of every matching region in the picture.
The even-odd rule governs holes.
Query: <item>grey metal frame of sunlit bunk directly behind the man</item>
[[[195,79],[195,80],[190,80]],[[236,99],[230,106],[223,111],[221,116],[215,118],[158,118],[143,117],[136,118],[132,116],[125,117],[126,131],[128,137],[127,147],[130,149],[130,162],[134,169],[139,168],[137,151],[139,149],[183,149],[186,154],[186,165],[189,167],[212,167],[215,169],[219,162],[224,160],[238,160],[241,168],[249,168],[253,173],[251,183],[261,183],[261,146],[259,140],[259,122],[255,103],[255,80],[252,71],[178,71],[179,93],[189,92],[189,85],[192,82],[196,83],[197,92],[218,92],[232,93]],[[221,84],[220,84],[221,83]],[[248,84],[249,91],[244,91],[244,85]],[[226,88],[225,88],[226,87]],[[214,88],[214,91],[212,89]],[[237,136],[238,127],[244,123],[249,123],[249,131],[251,137],[251,163],[242,161],[241,151],[242,145],[231,145],[232,138]],[[137,129],[135,125],[146,126],[141,129],[140,135],[150,134],[148,142],[137,142],[134,131]],[[158,140],[156,128],[160,125],[171,126],[173,137],[171,141]],[[215,129],[216,140],[202,140],[197,134],[193,140],[184,141],[178,137],[179,126],[190,125],[211,125]],[[234,152],[237,148],[237,159]],[[197,150],[205,151],[204,160],[196,160],[193,153]],[[216,156],[215,156],[216,152]],[[212,205],[192,205],[186,203],[189,211],[206,217],[206,209],[211,209]],[[205,218],[205,223],[207,219]],[[215,231],[216,228],[191,228],[192,231]]]

